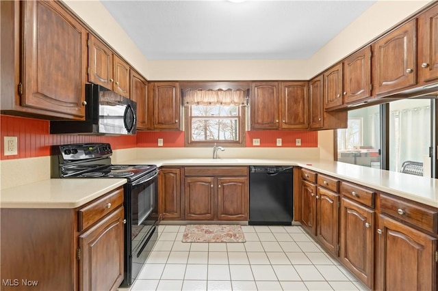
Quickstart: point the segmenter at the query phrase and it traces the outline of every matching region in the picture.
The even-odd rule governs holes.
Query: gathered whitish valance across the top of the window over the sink
[[[184,105],[246,105],[246,90],[205,90],[184,91]]]

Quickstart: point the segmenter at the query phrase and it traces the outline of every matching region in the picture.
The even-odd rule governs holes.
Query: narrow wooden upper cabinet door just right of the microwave
[[[137,129],[149,129],[150,113],[148,106],[148,91],[146,80],[136,71],[131,70],[131,100],[137,102]]]

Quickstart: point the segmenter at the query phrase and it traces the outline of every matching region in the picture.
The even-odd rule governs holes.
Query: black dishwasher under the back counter
[[[250,166],[249,225],[291,225],[294,219],[293,167]]]

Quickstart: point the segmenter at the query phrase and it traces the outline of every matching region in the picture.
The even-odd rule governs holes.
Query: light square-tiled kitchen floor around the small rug
[[[185,225],[159,225],[131,290],[368,290],[300,226],[242,229],[246,243],[181,243]]]

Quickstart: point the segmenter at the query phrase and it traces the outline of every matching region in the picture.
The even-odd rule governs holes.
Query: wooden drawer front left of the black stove
[[[104,217],[123,204],[123,187],[96,199],[94,202],[79,209],[79,232]]]

